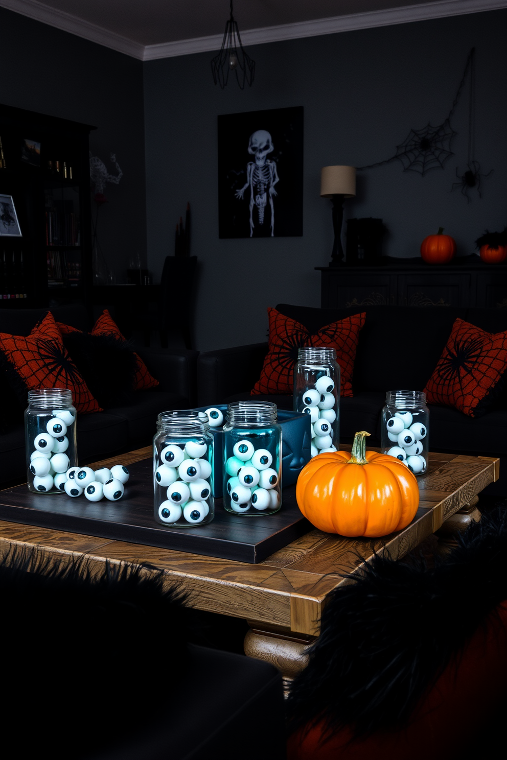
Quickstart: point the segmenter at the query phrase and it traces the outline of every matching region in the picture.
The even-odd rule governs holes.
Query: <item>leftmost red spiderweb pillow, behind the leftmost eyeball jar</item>
[[[62,334],[51,312],[27,337],[0,333],[0,351],[16,372],[20,395],[33,388],[69,388],[78,413],[102,411],[65,350]]]

